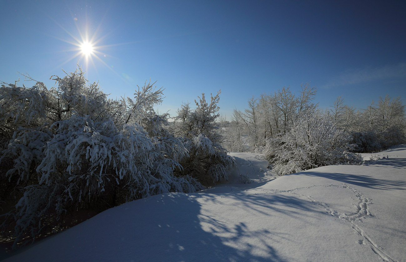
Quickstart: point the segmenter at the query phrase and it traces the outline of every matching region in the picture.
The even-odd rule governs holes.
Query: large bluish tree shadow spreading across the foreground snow
[[[272,217],[276,220],[277,213],[298,219],[309,212],[324,213],[294,195],[156,195],[106,210],[13,261],[288,261],[272,243],[288,244],[294,236],[238,219],[232,224],[219,221],[213,212],[203,212],[206,205],[214,206],[214,214],[232,208],[233,214],[266,215],[269,220],[263,225],[272,223]]]

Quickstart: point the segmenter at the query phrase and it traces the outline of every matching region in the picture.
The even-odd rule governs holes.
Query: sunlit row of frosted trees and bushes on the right
[[[283,87],[248,99],[223,121],[225,148],[263,153],[279,174],[321,165],[361,163],[354,152],[378,151],[405,141],[405,112],[400,98],[380,97],[365,110],[344,105],[341,97],[328,110],[313,103],[316,88],[301,86],[296,95]]]

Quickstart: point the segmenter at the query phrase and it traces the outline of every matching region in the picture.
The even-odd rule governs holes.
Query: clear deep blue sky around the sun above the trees
[[[406,102],[406,1],[1,0],[0,80],[28,73],[48,88],[76,64],[112,97],[146,79],[164,86],[159,111],[219,89],[229,118],[247,99],[311,82],[317,102]],[[75,56],[88,32],[97,57]],[[23,77],[21,77],[23,79]],[[26,84],[26,86],[30,84]]]

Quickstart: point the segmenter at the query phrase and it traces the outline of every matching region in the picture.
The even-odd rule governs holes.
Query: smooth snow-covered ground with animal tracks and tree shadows
[[[276,179],[233,156],[226,184],[128,202],[5,261],[406,261],[406,146]]]

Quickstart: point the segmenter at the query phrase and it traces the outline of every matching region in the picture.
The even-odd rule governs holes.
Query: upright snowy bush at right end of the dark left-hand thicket
[[[220,144],[223,137],[216,122],[220,109],[217,105],[219,94],[220,91],[215,97],[211,96],[210,103],[202,94],[199,102],[195,100],[195,110],[191,110],[188,104],[182,105],[174,123],[174,133],[184,137],[189,152],[189,156],[180,161],[182,169],[178,169],[176,174],[190,175],[204,185],[227,180],[235,165]]]

